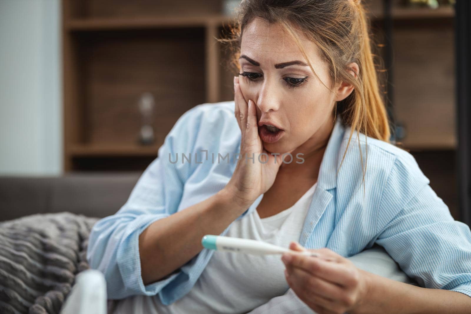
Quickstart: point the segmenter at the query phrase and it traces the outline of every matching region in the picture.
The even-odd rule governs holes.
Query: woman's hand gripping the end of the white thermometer
[[[292,242],[291,250],[305,250]],[[296,295],[318,314],[353,313],[368,291],[368,278],[352,262],[328,249],[309,250],[310,257],[284,253],[286,281]]]

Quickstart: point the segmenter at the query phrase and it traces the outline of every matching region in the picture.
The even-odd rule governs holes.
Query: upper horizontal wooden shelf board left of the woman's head
[[[141,18],[73,19],[65,27],[72,32],[91,32],[124,29],[209,27],[231,23],[229,16],[156,16]]]

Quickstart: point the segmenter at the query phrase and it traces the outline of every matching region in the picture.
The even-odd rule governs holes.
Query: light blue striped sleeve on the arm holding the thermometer
[[[395,165],[378,210],[376,243],[409,277],[471,296],[470,228],[453,219],[418,167]]]

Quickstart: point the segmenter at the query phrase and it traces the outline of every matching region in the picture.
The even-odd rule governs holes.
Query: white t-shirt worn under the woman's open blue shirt
[[[257,210],[231,225],[226,236],[260,240],[281,247],[299,241],[316,184],[289,209],[260,219]],[[280,255],[216,251],[183,298],[169,306],[158,296],[135,296],[117,302],[114,314],[247,313],[283,295],[289,286]]]

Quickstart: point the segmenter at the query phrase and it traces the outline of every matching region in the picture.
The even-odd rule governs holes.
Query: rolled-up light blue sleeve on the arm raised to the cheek
[[[147,167],[119,211],[99,220],[89,237],[87,258],[91,268],[106,278],[108,298],[156,295],[181,270],[161,281],[144,285],[138,250],[139,235],[154,221],[175,213],[183,186],[191,174],[189,163],[172,163],[175,153],[191,152],[199,128],[194,107],[184,113],[165,137],[158,157]]]

